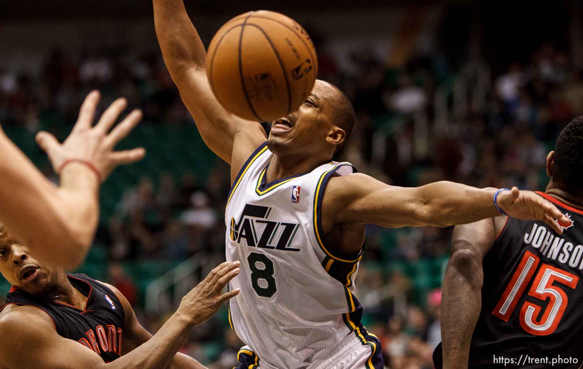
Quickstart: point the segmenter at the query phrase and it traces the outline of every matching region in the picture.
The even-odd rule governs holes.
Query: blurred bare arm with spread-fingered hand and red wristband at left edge
[[[99,185],[120,164],[143,158],[142,148],[113,148],[141,120],[134,110],[111,133],[125,109],[116,100],[92,127],[99,92],[90,93],[69,137],[59,142],[49,133],[37,135],[60,175],[57,187],[47,180],[0,130],[0,221],[41,260],[75,269],[85,259],[99,219]]]

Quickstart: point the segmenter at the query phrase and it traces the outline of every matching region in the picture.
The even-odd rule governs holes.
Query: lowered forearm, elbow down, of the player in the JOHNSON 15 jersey
[[[441,300],[444,368],[468,368],[470,342],[482,305],[484,276],[480,260],[468,249],[452,251]]]

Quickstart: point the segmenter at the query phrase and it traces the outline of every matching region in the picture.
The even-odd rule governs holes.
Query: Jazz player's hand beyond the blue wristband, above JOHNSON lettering
[[[570,224],[556,206],[532,191],[519,191],[518,187],[512,187],[512,190],[498,194],[497,203],[511,217],[542,220],[558,233],[563,233],[559,224]]]

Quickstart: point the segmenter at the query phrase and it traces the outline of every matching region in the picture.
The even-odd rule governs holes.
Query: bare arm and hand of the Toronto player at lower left
[[[10,344],[0,344],[0,367],[10,369],[160,369],[173,360],[190,330],[205,322],[220,305],[238,294],[221,294],[224,286],[238,274],[238,264],[223,263],[190,291],[178,310],[147,342],[124,356],[104,363],[87,347],[58,335],[47,316],[33,307],[30,314],[9,311],[0,318],[0,337],[10,337]],[[31,311],[34,310],[34,311]],[[124,334],[125,336],[125,334]]]

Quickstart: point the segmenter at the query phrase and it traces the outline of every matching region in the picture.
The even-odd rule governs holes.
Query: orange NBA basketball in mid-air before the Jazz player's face
[[[215,34],[206,73],[229,112],[272,121],[297,110],[310,95],[318,61],[310,36],[296,21],[255,11],[229,20]]]

